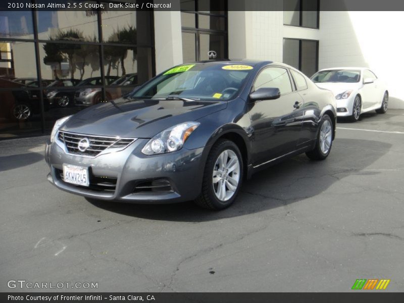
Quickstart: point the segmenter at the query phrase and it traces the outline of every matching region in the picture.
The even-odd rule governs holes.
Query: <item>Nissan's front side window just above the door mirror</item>
[[[281,67],[269,67],[263,70],[254,82],[255,90],[259,88],[276,87],[279,88],[281,94],[292,91],[287,70]]]

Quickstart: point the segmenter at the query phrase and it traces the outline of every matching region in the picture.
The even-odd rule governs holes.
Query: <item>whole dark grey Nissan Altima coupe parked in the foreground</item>
[[[304,152],[327,158],[335,123],[331,91],[290,66],[186,64],[58,120],[48,180],[87,198],[220,210],[260,169]]]

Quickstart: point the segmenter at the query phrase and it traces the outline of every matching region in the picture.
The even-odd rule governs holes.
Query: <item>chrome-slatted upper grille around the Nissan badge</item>
[[[79,142],[87,138],[89,146],[84,151],[79,149]],[[66,146],[66,151],[69,154],[96,157],[103,151],[119,151],[126,148],[129,144],[135,141],[135,138],[121,138],[121,137],[106,137],[76,134],[66,131],[59,131],[58,139]],[[113,150],[112,150],[113,149]]]

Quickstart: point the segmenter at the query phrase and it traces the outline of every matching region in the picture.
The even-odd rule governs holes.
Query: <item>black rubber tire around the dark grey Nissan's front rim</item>
[[[222,153],[224,153],[225,150],[230,150],[234,153],[235,156],[237,156],[238,165],[239,165],[239,170],[237,172],[238,184],[236,186],[236,189],[234,190],[234,193],[232,194],[232,196],[229,199],[220,200],[216,196],[216,192],[215,192],[215,188],[214,188],[215,185],[213,183],[213,181],[214,181],[213,173],[214,173],[214,170],[217,169],[217,161],[219,161],[218,160],[219,156],[222,155]],[[227,159],[226,159],[226,161],[227,161]],[[230,163],[230,161],[228,163]],[[234,177],[234,172],[231,174],[233,174],[232,177]],[[233,141],[230,141],[227,139],[218,140],[215,143],[215,145],[212,147],[212,149],[210,150],[210,153],[209,153],[208,159],[206,161],[206,165],[205,165],[201,193],[195,199],[195,203],[200,207],[210,209],[210,210],[223,210],[225,208],[228,208],[230,205],[233,204],[234,200],[237,197],[238,191],[242,184],[242,177],[243,177],[243,160],[242,160],[242,156],[240,153],[240,149],[237,147],[237,145]],[[222,182],[227,182],[227,177],[225,180],[222,179]],[[224,186],[226,186],[226,188],[227,188],[227,185],[224,185]],[[227,188],[227,189],[229,189],[229,188]]]

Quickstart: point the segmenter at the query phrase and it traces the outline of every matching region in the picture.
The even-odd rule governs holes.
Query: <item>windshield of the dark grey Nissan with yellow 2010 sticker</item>
[[[179,96],[190,99],[229,100],[237,95],[252,69],[252,66],[240,64],[182,65],[156,77],[129,97],[160,99]]]

